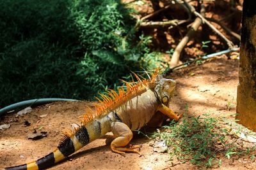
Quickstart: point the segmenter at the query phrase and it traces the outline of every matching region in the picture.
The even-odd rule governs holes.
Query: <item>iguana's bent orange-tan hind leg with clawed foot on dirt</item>
[[[126,145],[132,139],[132,131],[127,125],[122,122],[112,122],[111,131],[114,134],[115,139],[111,142],[111,150],[116,153],[120,153],[125,156],[125,152],[135,152],[140,154],[136,149],[140,149],[141,146],[132,146],[129,145],[128,148],[125,148]]]

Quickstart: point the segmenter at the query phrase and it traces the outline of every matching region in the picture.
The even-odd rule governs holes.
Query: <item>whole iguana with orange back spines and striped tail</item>
[[[161,115],[175,121],[178,121],[181,115],[176,115],[168,108],[176,85],[174,80],[163,78],[157,71],[151,73],[151,76],[148,75],[149,79],[142,79],[135,73],[134,76],[137,82],[122,80],[126,90],[108,90],[106,94],[96,97],[100,104],[96,104],[95,110],[91,110],[92,113],[86,113],[80,118],[80,125],[73,126],[73,129],[63,133],[60,144],[53,152],[28,164],[6,169],[45,169],[107,132],[113,132],[115,137],[110,145],[113,152],[122,155],[125,155],[125,152],[140,154],[141,146],[128,145],[132,139],[132,131],[145,124],[161,124]]]

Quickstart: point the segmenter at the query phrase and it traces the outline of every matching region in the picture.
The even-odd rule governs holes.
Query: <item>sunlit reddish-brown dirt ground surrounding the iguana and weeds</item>
[[[211,114],[212,117],[229,117],[234,120],[236,113],[236,94],[238,84],[238,61],[214,59],[201,66],[191,66],[172,73],[177,81],[177,89],[170,107],[173,111],[184,113],[188,104],[189,115]],[[228,104],[229,103],[229,104]],[[226,110],[227,104],[230,110]],[[56,147],[61,131],[78,122],[86,106],[92,103],[58,102],[33,108],[31,113],[15,116],[10,113],[2,118],[1,124],[11,124],[10,128],[0,131],[0,168],[24,164],[46,155]],[[47,114],[47,115],[45,115]],[[43,115],[43,116],[42,116]],[[41,116],[41,117],[40,117]],[[30,126],[24,124],[25,121]],[[33,129],[47,132],[47,137],[31,140],[29,132]],[[50,169],[201,169],[189,162],[173,166],[168,153],[153,151],[152,139],[135,135],[131,143],[142,145],[139,157],[127,153],[126,157],[111,152],[111,134],[97,139]],[[109,140],[107,140],[109,141]],[[212,169],[256,169],[256,163],[247,161],[248,156],[236,159],[222,158],[222,166]]]

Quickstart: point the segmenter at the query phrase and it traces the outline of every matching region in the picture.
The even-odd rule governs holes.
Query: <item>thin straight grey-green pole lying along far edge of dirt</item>
[[[207,59],[211,59],[212,57],[216,57],[216,56],[218,56],[218,55],[223,55],[223,54],[225,54],[225,53],[237,52],[238,50],[240,50],[239,47],[238,47],[238,48],[232,48],[232,49],[223,50],[223,51],[221,51],[221,52],[211,53],[211,54],[209,54],[209,55],[205,55],[205,56],[200,57],[200,58],[198,58],[198,59],[190,60],[190,61],[188,61],[188,62],[184,62],[184,63],[180,64],[179,66],[172,67],[168,72],[174,71],[174,70],[177,70],[177,69],[182,69],[182,68],[184,68],[184,67],[182,67],[182,66],[185,66],[185,65],[189,66],[189,64],[191,64],[192,62],[196,62],[197,60],[207,60]]]

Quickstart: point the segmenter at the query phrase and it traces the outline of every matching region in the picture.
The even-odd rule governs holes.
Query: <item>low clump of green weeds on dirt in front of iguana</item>
[[[211,164],[213,148],[212,144],[222,140],[222,136],[213,132],[216,120],[205,118],[200,121],[200,117],[191,117],[190,120],[184,118],[182,124],[171,122],[164,126],[167,132],[156,134],[161,139],[166,139],[166,144],[171,146],[170,155],[177,156],[184,161],[190,160],[193,164],[200,164],[207,159]]]

